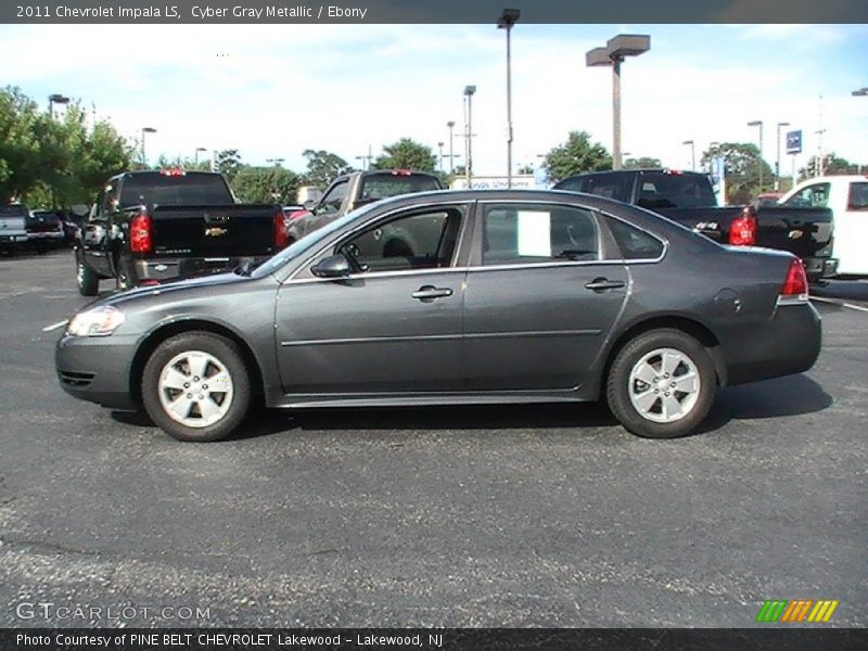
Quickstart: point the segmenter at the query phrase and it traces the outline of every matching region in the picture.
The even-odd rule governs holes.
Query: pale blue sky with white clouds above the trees
[[[822,128],[826,151],[868,164],[868,98],[851,95],[868,86],[866,25],[520,23],[516,165],[572,129],[611,149],[611,73],[584,58],[621,33],[651,35],[651,51],[624,64],[625,152],[689,167],[685,140],[699,157],[711,141],[756,141],[746,123],[761,119],[771,165],[779,122],[803,130],[805,156]],[[448,120],[460,164],[462,91],[473,84],[474,171],[506,174],[506,47],[494,25],[3,25],[0,58],[0,84],[41,103],[60,92],[95,105],[129,138],[156,128],[151,159],[233,148],[246,163],[282,157],[297,170],[305,149],[354,164],[401,137],[448,151]]]

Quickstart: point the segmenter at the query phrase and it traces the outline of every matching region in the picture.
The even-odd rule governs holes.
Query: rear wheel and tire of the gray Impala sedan
[[[717,374],[695,339],[680,330],[651,330],[621,349],[605,388],[609,408],[627,431],[677,438],[694,432],[709,414]]]

